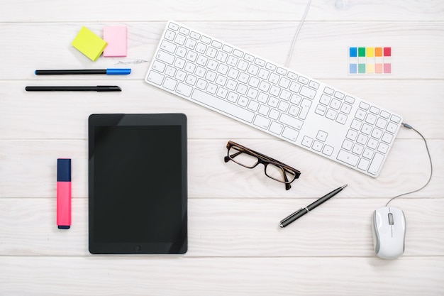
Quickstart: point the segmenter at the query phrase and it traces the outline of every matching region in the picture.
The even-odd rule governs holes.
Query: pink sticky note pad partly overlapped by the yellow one
[[[126,26],[104,27],[104,57],[126,57]]]

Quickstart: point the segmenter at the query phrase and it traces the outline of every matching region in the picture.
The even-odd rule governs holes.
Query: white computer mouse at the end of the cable
[[[406,217],[397,207],[376,209],[372,216],[374,252],[383,259],[396,259],[404,253]]]

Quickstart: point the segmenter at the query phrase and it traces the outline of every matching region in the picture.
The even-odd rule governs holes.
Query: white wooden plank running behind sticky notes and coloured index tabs
[[[132,68],[131,75],[108,77],[109,80],[143,79],[165,23],[166,21],[124,23],[128,27],[128,56],[100,58],[94,62],[94,67]],[[184,23],[280,65],[285,65],[287,62],[290,45],[298,26],[294,21],[184,21]],[[71,46],[72,40],[82,26],[87,26],[96,35],[101,36],[104,26],[118,24],[121,23],[5,23],[2,25],[0,55],[11,58],[2,60],[2,67],[7,71],[0,72],[0,79],[44,83],[48,77],[35,76],[35,69],[92,67],[91,60]],[[42,39],[45,40],[44,43],[41,42]],[[430,40],[433,40],[433,44]],[[33,45],[31,51],[30,45]],[[392,75],[349,76],[350,46],[392,47]],[[444,63],[444,53],[437,48],[444,48],[444,22],[313,21],[304,23],[289,67],[318,80],[353,78],[353,80],[370,80],[372,84],[377,84],[380,80],[443,79],[444,69],[436,65]],[[77,75],[68,79],[89,78]],[[67,77],[51,77],[51,80],[67,80]],[[336,84],[335,86],[340,87]]]

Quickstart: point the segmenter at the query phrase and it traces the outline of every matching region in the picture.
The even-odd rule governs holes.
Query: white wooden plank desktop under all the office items
[[[6,1],[3,1],[6,2]],[[294,3],[296,2],[296,3]],[[9,1],[0,9],[0,295],[444,295],[444,2],[313,1],[294,70],[404,116],[428,140],[430,185],[392,202],[406,251],[372,250],[370,216],[421,187],[423,141],[402,128],[377,179],[279,141],[143,82],[168,19],[284,64],[299,1]],[[128,27],[128,56],[91,62],[81,26]],[[348,47],[392,47],[392,75],[348,75]],[[128,77],[38,77],[35,69],[131,67]],[[26,85],[117,84],[121,93],[27,93]],[[87,118],[183,112],[189,121],[189,251],[93,256],[87,243]],[[233,140],[301,170],[289,191],[224,163]],[[55,224],[56,159],[72,158],[72,228]],[[315,211],[278,222],[340,185]]]

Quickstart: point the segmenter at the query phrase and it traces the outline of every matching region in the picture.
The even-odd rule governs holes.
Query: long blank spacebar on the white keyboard
[[[199,89],[194,89],[192,99],[207,106],[211,106],[214,109],[218,109],[223,113],[235,116],[238,119],[245,120],[248,123],[251,123],[252,119],[255,117],[255,114],[253,112],[245,110],[240,106],[236,106],[235,104],[228,103],[223,99],[214,97],[211,94],[207,94],[206,92],[202,92]]]

